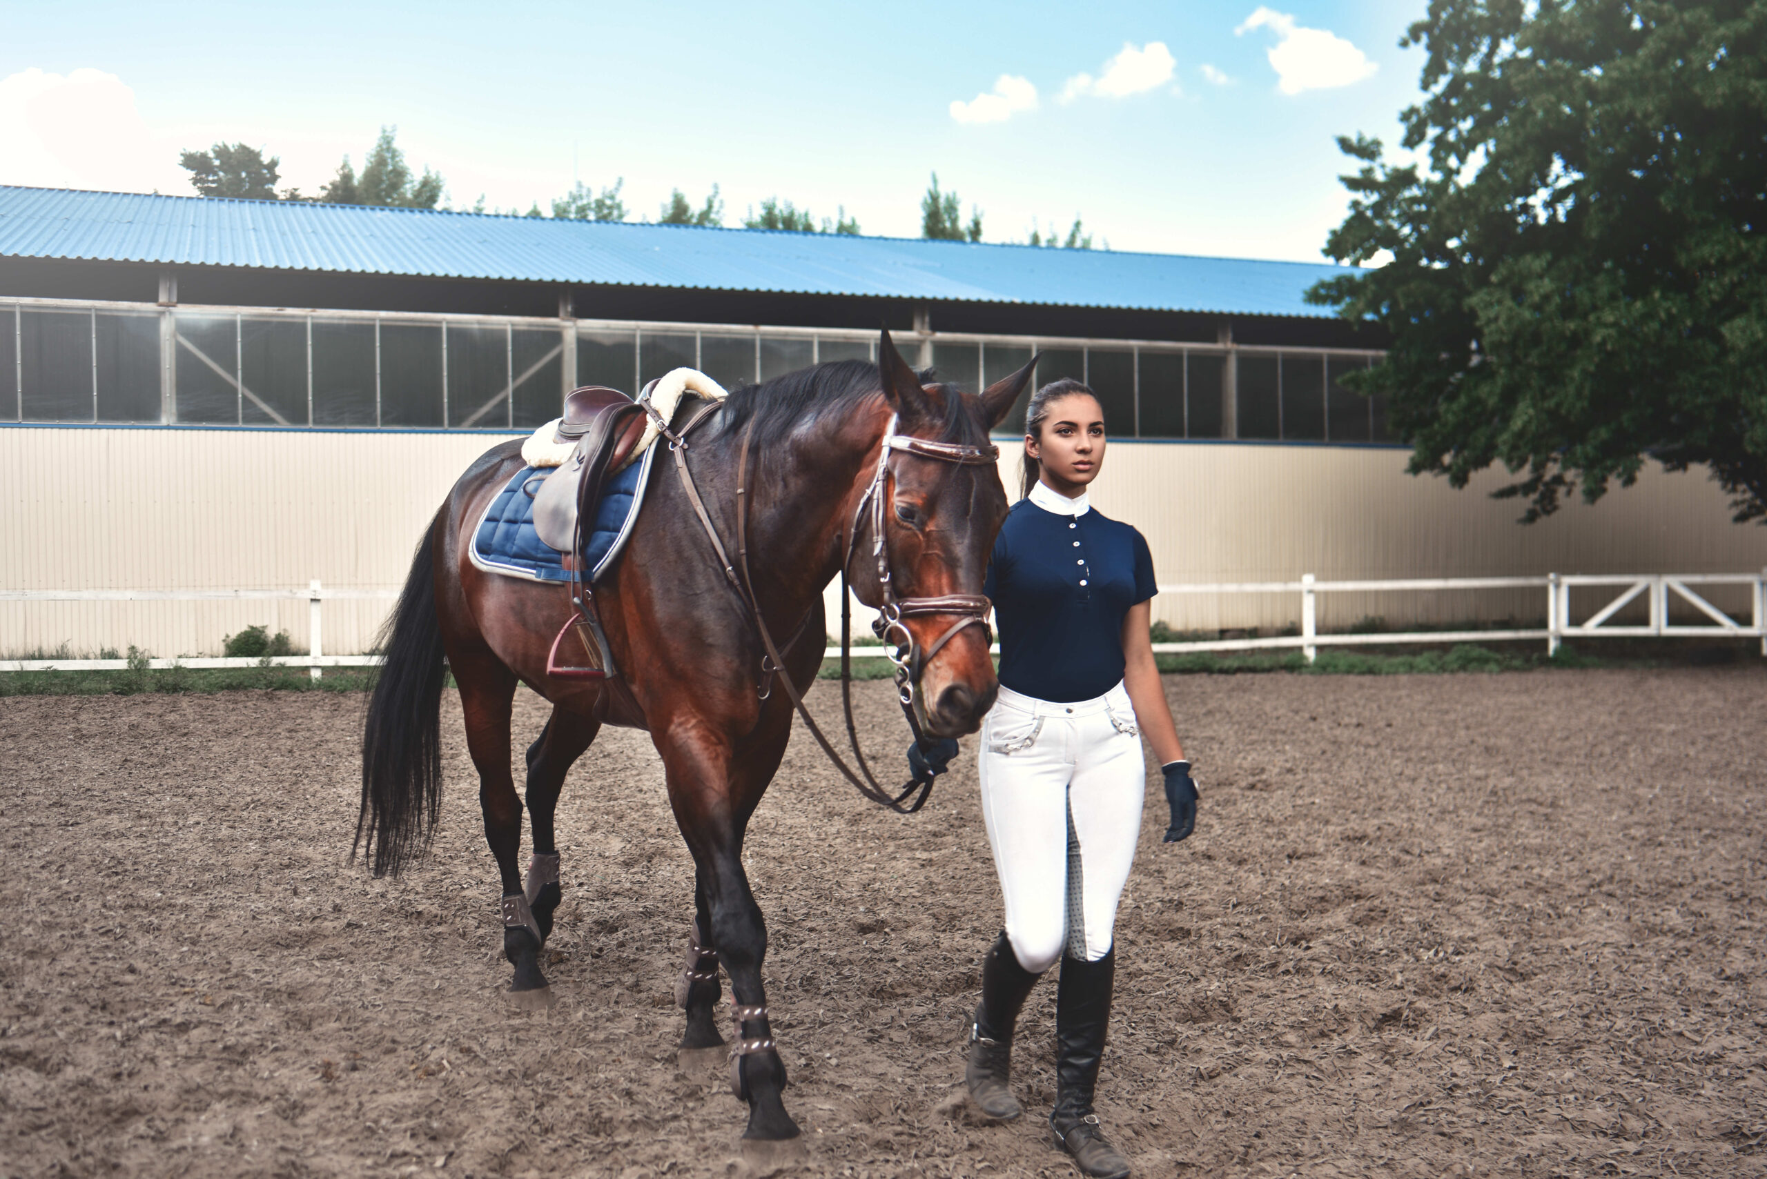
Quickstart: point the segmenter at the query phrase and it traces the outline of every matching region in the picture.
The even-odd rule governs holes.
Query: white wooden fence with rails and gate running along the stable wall
[[[1712,605],[1695,586],[1748,586],[1749,621]],[[1571,620],[1573,588],[1608,588],[1613,597],[1583,621]],[[1329,632],[1318,630],[1318,598],[1327,593],[1430,593],[1461,590],[1544,590],[1546,625],[1514,630],[1389,630],[1389,632]],[[1301,648],[1308,662],[1318,657],[1322,646],[1385,646],[1403,642],[1513,642],[1544,641],[1548,655],[1557,653],[1566,639],[1603,637],[1718,637],[1760,639],[1767,655],[1767,568],[1758,574],[1548,574],[1544,577],[1412,577],[1398,581],[1318,581],[1304,574],[1301,581],[1244,581],[1219,584],[1163,584],[1163,595],[1246,595],[1295,593],[1301,595],[1301,630],[1292,635],[1255,639],[1200,639],[1191,642],[1156,642],[1159,655],[1184,651],[1258,651]],[[269,658],[148,658],[147,667],[307,667],[315,680],[323,667],[373,667],[378,655],[325,655],[320,648],[320,605],[327,600],[396,598],[398,590],[327,590],[318,581],[306,590],[0,590],[0,602],[249,602],[274,598],[307,600],[307,653]],[[1643,625],[1613,623],[1634,600],[1643,598],[1647,621]],[[1672,623],[1670,607],[1675,602],[1703,616],[1703,623]],[[995,651],[1000,648],[995,646]],[[827,648],[825,658],[839,658],[841,650]],[[853,648],[855,658],[880,658],[884,648]],[[140,665],[140,664],[136,664]],[[124,658],[11,658],[0,660],[0,671],[124,671]]]

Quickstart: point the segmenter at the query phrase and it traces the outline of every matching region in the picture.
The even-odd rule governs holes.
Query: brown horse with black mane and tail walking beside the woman
[[[595,586],[618,669],[603,681],[548,674],[551,641],[573,616],[567,590],[491,575],[466,556],[486,503],[523,466],[514,441],[489,450],[419,544],[389,621],[362,741],[357,824],[376,875],[422,856],[433,833],[440,699],[451,671],[502,875],[512,988],[544,987],[537,955],[560,900],[553,812],[565,771],[603,724],[648,731],[696,874],[687,967],[677,983],[687,1013],[682,1048],[724,1043],[712,1020],[723,964],[737,1020],[732,1084],[749,1103],[744,1137],[795,1137],[762,988],[767,927],[742,870],[742,838],[792,734],[790,688],[808,688],[820,667],[822,591],[836,574],[848,575],[862,602],[919,604],[901,611],[901,625],[919,653],[906,687],[926,734],[956,738],[981,725],[997,692],[988,630],[961,618],[952,627],[951,616],[986,605],[982,575],[1007,499],[993,462],[977,455],[991,454],[988,429],[1005,418],[1030,371],[979,397],[922,385],[885,332],[876,367],[823,364],[732,392],[686,438],[686,471],[670,469],[677,455],[657,457],[633,535]],[[696,494],[721,545],[700,526]],[[730,575],[724,551],[742,552],[747,586]],[[783,648],[777,671],[767,635]],[[790,676],[788,692],[770,690],[776,676]],[[527,888],[511,775],[518,681],[553,704],[527,752]]]

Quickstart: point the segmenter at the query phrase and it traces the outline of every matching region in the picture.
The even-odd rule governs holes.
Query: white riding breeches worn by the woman
[[[1111,946],[1141,835],[1147,770],[1129,694],[1051,704],[1007,687],[982,722],[982,821],[1005,935],[1027,971]]]

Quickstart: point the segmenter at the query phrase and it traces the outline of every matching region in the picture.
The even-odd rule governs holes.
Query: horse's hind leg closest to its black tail
[[[516,674],[488,648],[449,650],[449,669],[459,685],[466,720],[466,750],[479,770],[479,808],[484,810],[484,842],[497,856],[504,888],[504,957],[516,967],[511,990],[546,987],[541,974],[541,930],[521,891],[521,798],[509,768],[509,718],[514,711]]]

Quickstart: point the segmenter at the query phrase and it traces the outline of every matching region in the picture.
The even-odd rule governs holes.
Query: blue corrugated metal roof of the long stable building
[[[1325,318],[1343,267],[0,185],[0,258]]]

